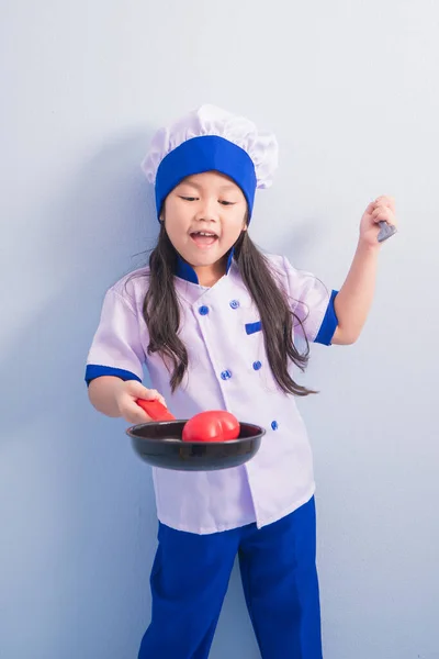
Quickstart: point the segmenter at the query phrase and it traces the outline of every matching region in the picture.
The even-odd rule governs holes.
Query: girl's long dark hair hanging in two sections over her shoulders
[[[175,391],[188,369],[188,350],[178,335],[180,308],[173,286],[177,252],[161,223],[157,246],[149,256],[149,287],[145,295],[143,314],[149,332],[148,355],[159,353],[172,365],[170,384]],[[294,382],[289,372],[290,362],[301,371],[308,361],[309,345],[304,353],[293,342],[293,322],[302,324],[291,311],[286,293],[275,280],[270,265],[243,231],[234,253],[244,283],[260,314],[267,357],[275,381],[285,393],[300,396],[316,393]],[[305,337],[306,334],[304,333]]]

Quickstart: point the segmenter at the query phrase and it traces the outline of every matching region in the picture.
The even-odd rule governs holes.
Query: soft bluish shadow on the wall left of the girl
[[[146,263],[142,252],[157,233],[153,191],[139,169],[148,137],[135,131],[113,139],[27,219],[44,236],[22,272],[22,304],[30,306],[44,281],[48,290],[0,358],[8,383],[0,456],[4,560],[14,570],[9,615],[11,625],[29,621],[26,638],[41,656],[115,658],[130,643],[135,656],[148,619],[150,472],[134,456],[126,424],[92,410],[83,381],[103,294]],[[14,643],[25,656],[29,640],[20,635]]]

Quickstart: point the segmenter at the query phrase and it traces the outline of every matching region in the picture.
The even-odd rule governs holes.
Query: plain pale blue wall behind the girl
[[[252,235],[328,286],[382,193],[360,342],[316,347],[326,659],[437,659],[439,8],[415,2],[3,2],[0,657],[135,658],[155,551],[149,470],[88,403],[102,295],[156,223],[138,164],[203,103],[277,132]],[[234,573],[213,659],[259,657]]]

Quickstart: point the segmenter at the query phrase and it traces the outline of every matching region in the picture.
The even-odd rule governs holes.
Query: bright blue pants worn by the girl
[[[206,659],[235,561],[263,659],[322,659],[314,498],[258,529],[198,535],[159,524],[151,623],[138,659]]]

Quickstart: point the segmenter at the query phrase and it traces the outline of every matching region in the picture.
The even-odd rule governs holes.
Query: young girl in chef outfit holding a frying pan
[[[277,159],[274,136],[211,105],[157,133],[143,169],[158,243],[148,268],[108,291],[90,349],[90,400],[109,416],[150,421],[135,401],[159,399],[178,418],[223,409],[267,429],[241,467],[154,469],[158,549],[139,659],[209,656],[236,555],[263,659],[322,659],[313,463],[294,400],[312,392],[294,378],[308,342],[359,336],[378,222],[395,224],[394,202],[368,205],[349,275],[327,291],[248,235],[256,188],[271,185]],[[155,389],[142,384],[144,364]]]

